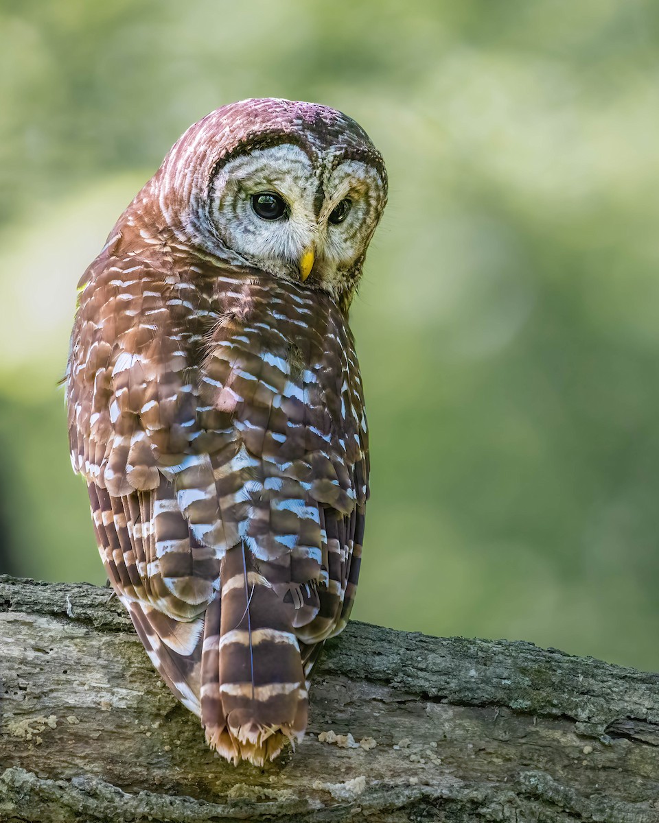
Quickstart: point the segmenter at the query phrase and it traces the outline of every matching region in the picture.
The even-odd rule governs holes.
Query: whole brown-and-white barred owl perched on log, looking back
[[[244,100],[180,137],[78,286],[68,432],[100,556],[234,763],[301,738],[353,603],[369,459],[348,309],[385,203],[358,123]]]

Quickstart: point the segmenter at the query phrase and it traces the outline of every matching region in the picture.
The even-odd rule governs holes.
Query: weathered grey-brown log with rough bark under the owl
[[[659,821],[659,676],[353,622],[309,732],[214,756],[107,589],[0,577],[0,821]]]

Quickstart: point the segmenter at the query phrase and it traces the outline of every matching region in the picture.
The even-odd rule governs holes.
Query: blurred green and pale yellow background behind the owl
[[[57,386],[77,280],[250,96],[344,110],[390,172],[353,616],[659,669],[652,0],[2,0],[0,570],[104,582]]]

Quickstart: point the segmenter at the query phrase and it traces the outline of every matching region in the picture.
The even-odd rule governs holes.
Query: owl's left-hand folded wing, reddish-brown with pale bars
[[[67,375],[72,465],[86,478],[115,591],[167,684],[199,714],[196,649],[220,560],[194,538],[163,470],[189,459],[199,434],[192,352],[208,301],[172,265],[111,249],[112,241],[78,287]]]

